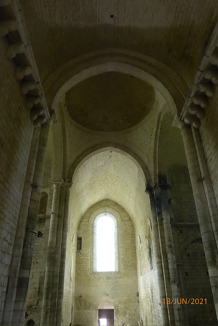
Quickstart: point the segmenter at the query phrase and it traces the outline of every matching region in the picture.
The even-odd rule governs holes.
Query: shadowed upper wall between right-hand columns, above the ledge
[[[184,144],[179,128],[172,127],[174,116],[163,113],[158,140],[158,173],[170,185],[168,198],[175,222],[198,222]],[[161,180],[159,180],[161,183]]]

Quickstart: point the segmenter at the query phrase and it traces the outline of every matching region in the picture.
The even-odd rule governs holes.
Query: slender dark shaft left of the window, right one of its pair
[[[72,185],[72,183],[66,183],[66,186],[65,186],[65,204],[64,204],[63,233],[62,233],[61,255],[60,255],[60,273],[59,273],[56,325],[61,325],[61,323],[62,323],[63,298],[64,298],[64,277],[65,277],[67,231],[68,231],[68,210],[69,210],[69,199],[70,199],[71,185]]]

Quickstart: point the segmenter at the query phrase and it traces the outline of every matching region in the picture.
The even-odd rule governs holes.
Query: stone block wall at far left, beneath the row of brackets
[[[28,164],[33,124],[29,118],[15,67],[6,57],[6,45],[0,39],[0,246],[1,292],[0,320],[6,294],[9,266],[13,251],[20,202]]]

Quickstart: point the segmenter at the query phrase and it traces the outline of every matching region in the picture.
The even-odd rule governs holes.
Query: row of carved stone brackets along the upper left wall
[[[20,82],[20,94],[25,98],[30,119],[38,127],[49,119],[39,72],[30,38],[17,0],[0,0],[0,37],[6,41],[6,55],[15,65],[15,78]]]

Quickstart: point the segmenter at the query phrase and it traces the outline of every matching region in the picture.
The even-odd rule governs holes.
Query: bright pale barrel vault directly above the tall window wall
[[[79,223],[89,207],[109,199],[126,210],[134,225],[135,216],[142,214],[141,205],[145,205],[146,181],[141,166],[126,152],[103,148],[90,153],[74,170],[69,211],[78,207],[74,216]],[[142,204],[135,205],[135,198]]]

